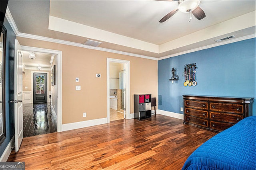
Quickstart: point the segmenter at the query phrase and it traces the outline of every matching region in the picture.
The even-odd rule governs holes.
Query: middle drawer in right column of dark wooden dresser
[[[242,120],[243,118],[244,118],[244,116],[239,115],[239,114],[219,113],[219,112],[210,111],[210,119],[211,120],[237,123],[238,121]]]

